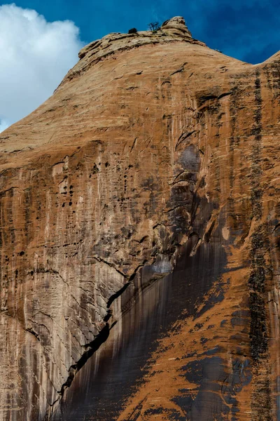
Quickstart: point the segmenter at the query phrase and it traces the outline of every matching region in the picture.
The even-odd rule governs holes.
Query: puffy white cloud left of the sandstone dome
[[[0,132],[46,100],[83,46],[69,20],[47,22],[15,4],[0,6]]]

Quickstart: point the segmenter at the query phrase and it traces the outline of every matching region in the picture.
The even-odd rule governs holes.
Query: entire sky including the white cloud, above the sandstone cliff
[[[52,94],[83,45],[178,15],[194,38],[239,60],[280,50],[280,0],[0,1],[0,133]]]

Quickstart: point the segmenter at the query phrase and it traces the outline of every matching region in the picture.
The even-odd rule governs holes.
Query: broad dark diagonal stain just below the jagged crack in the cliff
[[[135,279],[134,288],[137,283],[146,288],[138,286],[134,306],[116,323],[109,339],[76,375],[52,420],[116,419],[125,398],[144,381],[148,370],[145,365],[157,348],[157,340],[167,333],[174,321],[195,315],[195,306],[203,302],[224,272],[226,258],[221,243],[202,243],[191,256],[194,245],[195,239],[190,237],[174,273],[154,280],[151,285],[147,281],[151,279],[151,267],[142,269],[141,279]],[[123,300],[121,307],[127,305],[127,297]],[[214,358],[218,357],[212,357],[211,361]],[[200,395],[206,393],[202,391]],[[177,415],[168,416],[179,420]]]

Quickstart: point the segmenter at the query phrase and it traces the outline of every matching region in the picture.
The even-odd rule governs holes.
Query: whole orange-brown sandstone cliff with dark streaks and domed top
[[[280,420],[279,78],[173,18],[1,133],[1,421]]]

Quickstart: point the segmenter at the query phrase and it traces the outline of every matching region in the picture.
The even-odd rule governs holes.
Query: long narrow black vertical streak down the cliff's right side
[[[260,71],[255,72],[255,126],[253,135],[253,159],[252,159],[252,190],[251,202],[253,218],[260,221],[262,218],[262,97]],[[267,326],[267,279],[269,268],[265,261],[266,251],[269,250],[269,241],[264,225],[257,225],[251,236],[251,259],[252,272],[248,279],[250,288],[249,309],[251,316],[250,340],[251,355],[253,359],[253,392],[252,411],[253,421],[272,420],[272,398],[270,389],[270,367],[268,349],[268,326]]]

